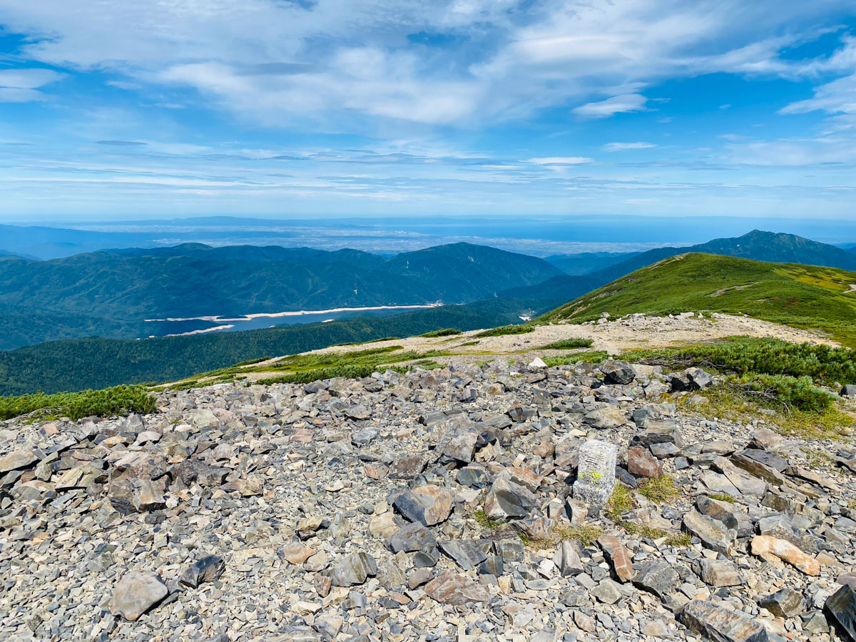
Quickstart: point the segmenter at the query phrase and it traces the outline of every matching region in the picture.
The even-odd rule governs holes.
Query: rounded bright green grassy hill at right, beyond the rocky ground
[[[584,322],[645,312],[747,314],[825,330],[856,347],[856,272],[814,265],[764,263],[713,254],[683,254],[604,285],[538,318]]]

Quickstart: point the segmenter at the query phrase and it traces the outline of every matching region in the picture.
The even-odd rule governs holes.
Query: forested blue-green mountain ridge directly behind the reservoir
[[[390,259],[356,250],[201,244],[48,261],[6,258],[0,259],[0,348],[162,333],[145,319],[468,303],[561,274],[542,259],[466,243]]]

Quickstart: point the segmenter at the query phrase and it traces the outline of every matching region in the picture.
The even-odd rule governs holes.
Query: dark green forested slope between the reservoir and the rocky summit
[[[439,328],[474,330],[520,323],[558,301],[484,300],[392,317],[355,318],[267,330],[197,336],[72,339],[0,352],[0,395],[107,388],[119,383],[175,381],[264,356],[294,354],[336,343],[413,336]]]

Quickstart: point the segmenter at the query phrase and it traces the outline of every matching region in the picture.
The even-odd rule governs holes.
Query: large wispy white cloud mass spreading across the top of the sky
[[[824,6],[832,15],[847,4]],[[33,60],[120,74],[111,82],[129,91],[188,87],[264,124],[350,129],[472,126],[565,104],[603,118],[641,110],[640,92],[663,79],[847,68],[851,41],[828,58],[779,56],[811,33],[770,33],[817,14],[800,0],[775,11],[743,0],[3,0],[3,27],[27,36]],[[420,32],[450,44],[409,44]],[[586,103],[598,96],[608,98]]]

